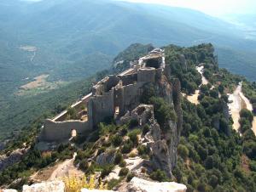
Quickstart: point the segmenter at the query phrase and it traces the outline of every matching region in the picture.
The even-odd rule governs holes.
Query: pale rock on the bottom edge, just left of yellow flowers
[[[65,184],[61,181],[43,182],[41,184],[23,185],[22,192],[64,192]]]

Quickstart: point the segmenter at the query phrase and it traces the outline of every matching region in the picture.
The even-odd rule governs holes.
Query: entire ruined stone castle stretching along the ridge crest
[[[78,111],[79,120],[67,120],[65,110],[44,123],[39,140],[46,142],[71,138],[71,133],[86,133],[109,116],[124,116],[140,104],[143,86],[156,82],[166,73],[164,51],[156,48],[147,56],[131,63],[131,68],[117,76],[107,76],[98,82],[92,92],[71,108]],[[168,71],[167,71],[168,72]]]

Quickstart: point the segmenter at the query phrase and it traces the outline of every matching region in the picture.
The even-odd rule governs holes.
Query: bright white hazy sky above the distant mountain
[[[137,3],[160,3],[171,6],[193,8],[221,16],[224,14],[256,14],[256,0],[119,0]]]

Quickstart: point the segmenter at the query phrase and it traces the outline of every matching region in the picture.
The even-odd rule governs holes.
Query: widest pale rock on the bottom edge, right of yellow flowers
[[[132,178],[128,184],[129,192],[185,192],[187,187],[184,184],[175,182],[152,182],[142,178]]]

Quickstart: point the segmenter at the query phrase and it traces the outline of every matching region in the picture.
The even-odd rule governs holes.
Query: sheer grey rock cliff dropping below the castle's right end
[[[158,95],[174,107],[177,121],[167,121],[165,131],[160,129],[156,121],[151,121],[150,132],[146,138],[151,140],[148,145],[152,150],[152,166],[164,170],[167,176],[171,177],[177,163],[177,145],[183,125],[180,82],[175,79],[171,84],[164,76],[156,88]]]

